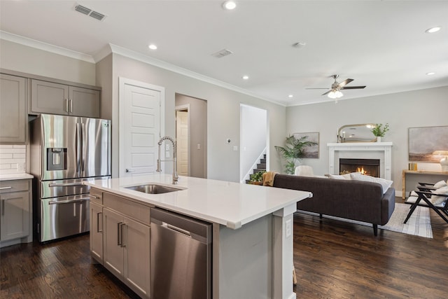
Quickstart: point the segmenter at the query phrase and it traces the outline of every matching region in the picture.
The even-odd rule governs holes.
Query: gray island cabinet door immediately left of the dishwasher
[[[125,249],[125,279],[148,298],[151,294],[150,279],[150,228],[137,221],[125,218],[123,248]]]

